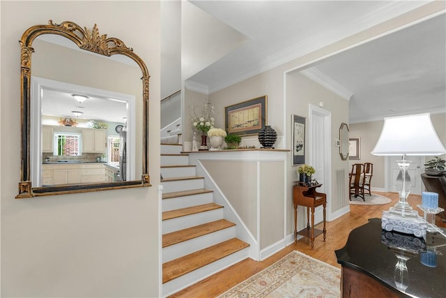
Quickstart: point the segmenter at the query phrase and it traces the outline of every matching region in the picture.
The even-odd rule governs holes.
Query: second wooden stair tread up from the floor
[[[224,230],[226,228],[231,228],[234,225],[236,224],[232,223],[231,221],[226,221],[226,219],[219,219],[218,221],[211,221],[210,223],[203,223],[202,225],[196,225],[191,228],[164,234],[162,235],[162,247],[164,248],[206,234]]]

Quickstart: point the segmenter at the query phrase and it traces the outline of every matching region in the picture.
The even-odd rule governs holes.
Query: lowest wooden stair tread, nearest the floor
[[[245,241],[233,238],[166,262],[162,265],[162,283],[167,283],[248,246]]]

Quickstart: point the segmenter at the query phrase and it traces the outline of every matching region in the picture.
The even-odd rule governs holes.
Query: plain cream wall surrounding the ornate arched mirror
[[[160,3],[1,1],[1,296],[159,294]],[[148,188],[16,200],[20,179],[20,40],[48,20],[121,38],[150,82]]]

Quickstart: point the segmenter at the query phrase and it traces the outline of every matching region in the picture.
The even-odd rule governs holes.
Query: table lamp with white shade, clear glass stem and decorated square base
[[[422,237],[427,223],[407,202],[410,193],[410,176],[407,169],[410,161],[406,156],[438,156],[446,149],[433,128],[429,113],[413,114],[384,119],[383,131],[371,154],[376,156],[402,156],[397,177],[399,201],[389,211],[383,211],[381,226],[387,231],[395,230]]]

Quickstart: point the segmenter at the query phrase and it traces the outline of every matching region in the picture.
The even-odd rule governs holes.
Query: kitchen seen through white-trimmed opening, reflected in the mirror
[[[42,175],[34,181],[57,186],[133,179],[127,163],[132,96],[111,97],[108,91],[38,77],[32,81],[77,90],[41,89]]]

